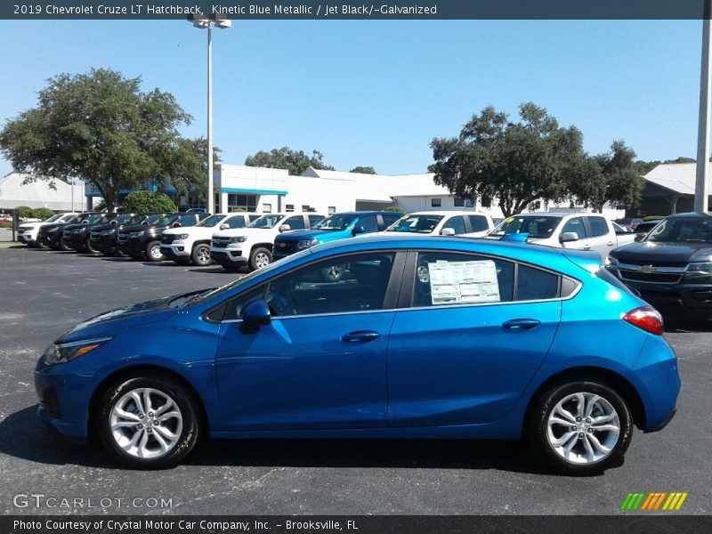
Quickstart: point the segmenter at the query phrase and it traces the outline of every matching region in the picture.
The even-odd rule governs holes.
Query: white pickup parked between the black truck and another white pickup
[[[245,228],[259,217],[254,213],[214,214],[195,226],[169,228],[161,234],[161,253],[175,263],[209,265],[214,231]]]

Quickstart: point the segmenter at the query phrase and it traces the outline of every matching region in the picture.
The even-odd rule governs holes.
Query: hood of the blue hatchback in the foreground
[[[167,296],[144,303],[136,303],[109,312],[103,312],[91,319],[85,320],[64,333],[56,343],[70,343],[93,337],[112,336],[121,328],[146,325],[160,322],[173,316],[182,303],[191,296],[211,289],[191,291],[181,295]]]

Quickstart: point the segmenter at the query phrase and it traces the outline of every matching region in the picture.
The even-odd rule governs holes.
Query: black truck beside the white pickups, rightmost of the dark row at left
[[[161,214],[140,226],[126,225],[118,233],[117,250],[134,260],[145,258],[150,262],[161,262],[165,259],[161,252],[161,232],[168,228],[195,226],[207,216],[209,214]]]

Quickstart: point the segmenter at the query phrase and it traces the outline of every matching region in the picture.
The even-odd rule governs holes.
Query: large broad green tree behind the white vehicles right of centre
[[[577,128],[559,126],[546,109],[529,102],[519,108],[520,121],[509,122],[493,107],[482,109],[458,137],[433,139],[429,167],[434,181],[462,198],[494,198],[506,216],[522,212],[537,199],[560,201],[568,177],[586,155]]]

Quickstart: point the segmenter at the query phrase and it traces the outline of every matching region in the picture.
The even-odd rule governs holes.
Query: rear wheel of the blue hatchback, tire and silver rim
[[[626,401],[599,382],[570,382],[544,392],[530,410],[529,439],[547,465],[572,475],[619,465],[633,421]]]

